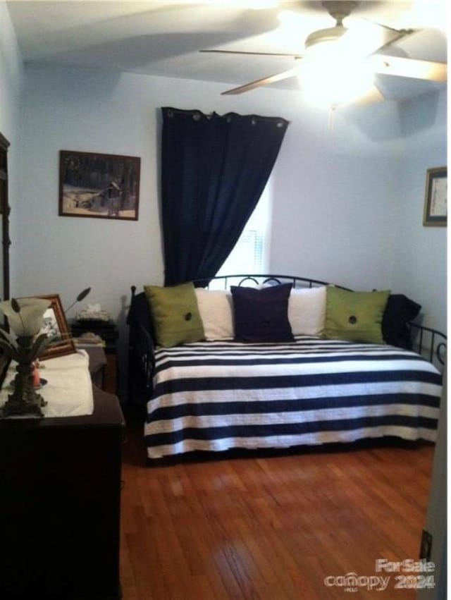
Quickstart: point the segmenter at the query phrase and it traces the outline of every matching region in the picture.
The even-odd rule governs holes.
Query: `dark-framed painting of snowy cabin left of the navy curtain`
[[[137,221],[139,157],[60,151],[60,216]]]

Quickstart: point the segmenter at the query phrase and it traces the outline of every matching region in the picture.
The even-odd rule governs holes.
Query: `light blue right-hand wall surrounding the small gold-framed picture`
[[[446,94],[404,106],[395,206],[393,286],[424,307],[424,324],[446,329],[447,228],[423,226],[426,170],[447,164]]]

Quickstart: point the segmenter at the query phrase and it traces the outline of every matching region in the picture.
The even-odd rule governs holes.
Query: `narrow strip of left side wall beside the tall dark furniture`
[[[20,90],[23,82],[22,59],[16,34],[4,0],[0,0],[0,132],[11,146],[8,149],[8,196],[11,211],[11,237],[18,230],[15,210],[20,180],[19,168],[19,111]],[[16,288],[18,267],[16,253],[11,249],[11,291]]]

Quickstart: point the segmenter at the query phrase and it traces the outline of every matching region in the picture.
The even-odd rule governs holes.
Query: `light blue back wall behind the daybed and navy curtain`
[[[352,288],[392,288],[421,301],[417,289],[426,276],[423,270],[403,272],[402,289],[398,285],[398,257],[407,257],[412,247],[402,234],[404,213],[409,211],[404,208],[407,149],[414,154],[410,145],[419,135],[422,148],[417,152],[428,156],[429,143],[435,144],[429,130],[433,140],[440,140],[440,148],[445,134],[429,123],[406,141],[403,128],[415,130],[414,106],[400,109],[385,102],[337,111],[330,128],[330,115],[303,104],[296,92],[266,89],[221,97],[221,91],[223,85],[130,73],[25,69],[18,210],[26,235],[16,247],[20,295],[60,293],[63,305],[68,305],[80,289],[92,286],[90,302],[101,302],[118,319],[125,341],[130,285],[163,281],[160,107],[177,106],[221,114],[279,115],[290,121],[273,173],[273,271]],[[429,106],[433,99],[423,102]],[[58,216],[61,149],[141,157],[139,221]],[[421,187],[426,162],[412,166]],[[414,223],[418,219],[421,230],[424,192],[411,190],[412,194],[420,211],[419,216],[409,211],[409,218]],[[438,235],[438,246],[444,249],[443,231],[421,233]],[[427,244],[424,252],[427,255]],[[443,271],[444,256],[439,263]],[[443,281],[436,284],[444,286]],[[422,303],[426,314],[441,310],[430,305],[429,298]],[[440,323],[443,318],[438,317]]]

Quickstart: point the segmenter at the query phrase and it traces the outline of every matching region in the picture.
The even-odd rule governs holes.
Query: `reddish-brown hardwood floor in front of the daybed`
[[[376,559],[418,560],[433,446],[146,467],[141,424],[125,417],[123,600],[416,597]],[[335,579],[349,573],[355,594]],[[364,577],[381,575],[385,591],[367,589]]]

